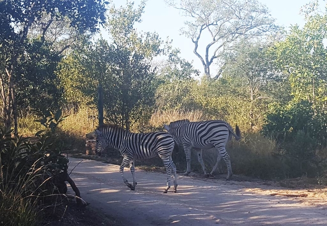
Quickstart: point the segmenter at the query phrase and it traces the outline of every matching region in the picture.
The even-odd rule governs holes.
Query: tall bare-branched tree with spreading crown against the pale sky
[[[258,37],[275,28],[274,19],[270,17],[267,7],[257,0],[165,1],[190,18],[185,22],[182,34],[193,42],[193,52],[201,60],[208,79],[211,79],[210,66],[214,60],[221,60],[220,54],[240,37]],[[208,37],[210,41],[204,54],[201,54],[199,41],[207,40]],[[222,69],[213,78],[218,78],[221,72]]]

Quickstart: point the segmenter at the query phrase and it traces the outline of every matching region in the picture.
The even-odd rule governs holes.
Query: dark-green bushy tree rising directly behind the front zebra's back
[[[154,103],[154,74],[143,55],[115,46],[110,52],[110,76],[103,81],[107,119],[129,130],[131,123],[146,118],[140,109]]]

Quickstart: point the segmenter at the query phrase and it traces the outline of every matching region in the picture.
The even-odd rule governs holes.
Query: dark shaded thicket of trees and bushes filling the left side
[[[67,146],[57,128],[64,117],[55,70],[70,46],[82,42],[104,23],[106,4],[84,0],[0,1],[2,225],[39,225],[42,210],[55,207],[66,196],[66,181],[80,196],[68,176],[68,159],[63,153]],[[39,106],[41,115],[33,111]],[[38,120],[34,129],[44,127],[33,138],[18,133],[18,120],[26,119],[27,114],[34,119],[25,123]],[[76,200],[81,203],[80,198]]]

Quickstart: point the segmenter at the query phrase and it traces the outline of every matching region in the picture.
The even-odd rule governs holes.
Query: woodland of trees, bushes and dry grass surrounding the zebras
[[[85,135],[98,126],[99,91],[105,123],[140,133],[180,119],[225,120],[242,132],[227,147],[235,174],[324,183],[326,11],[313,1],[301,9],[305,25],[286,31],[256,0],[166,2],[186,16],[182,35],[194,44],[203,75],[174,40],[134,28],[146,2],[0,1],[1,199],[9,205],[1,208],[27,190],[37,193],[27,195],[34,202],[20,208],[52,194],[51,178],[67,169],[61,154],[83,151]],[[199,50],[202,39],[209,41]],[[173,156],[181,171],[183,155]],[[215,155],[204,153],[209,168]],[[26,183],[27,190],[14,189]]]

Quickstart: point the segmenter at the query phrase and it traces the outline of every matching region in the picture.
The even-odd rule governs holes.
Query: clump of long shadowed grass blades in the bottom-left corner
[[[19,149],[12,150],[16,156]],[[16,154],[15,154],[16,152]],[[8,160],[8,159],[7,159]],[[48,180],[45,167],[36,167],[40,159],[29,169],[16,158],[6,161],[0,157],[0,222],[6,226],[33,226],[39,225],[42,219],[42,208],[39,201],[42,185]],[[26,164],[27,165],[27,164]],[[25,168],[25,169],[24,169]]]

